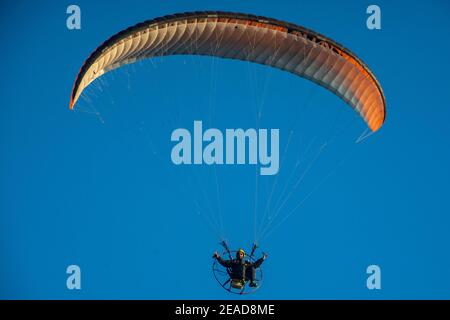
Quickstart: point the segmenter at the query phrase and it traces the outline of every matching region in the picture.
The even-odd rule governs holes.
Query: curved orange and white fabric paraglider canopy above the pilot
[[[350,50],[291,23],[229,12],[165,16],[112,36],[81,67],[70,108],[92,81],[110,70],[146,58],[182,54],[251,61],[309,79],[343,99],[372,131],[386,117],[378,80]]]

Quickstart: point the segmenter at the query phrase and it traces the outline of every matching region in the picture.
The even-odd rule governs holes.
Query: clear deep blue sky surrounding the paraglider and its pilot
[[[66,28],[69,4],[16,1],[0,13],[1,298],[236,298],[215,282],[211,255],[220,235],[249,248],[255,215],[271,233],[251,298],[450,298],[446,1],[377,1],[379,31],[365,26],[366,1],[77,1],[77,31]],[[364,123],[326,90],[205,57],[114,71],[69,110],[75,76],[101,42],[196,10],[273,17],[342,43],[379,79],[385,125],[355,144]],[[174,166],[170,134],[194,120],[279,128],[280,173]],[[288,219],[269,225],[266,207]],[[71,264],[82,270],[79,291],[66,288]],[[371,264],[379,291],[366,288]]]

